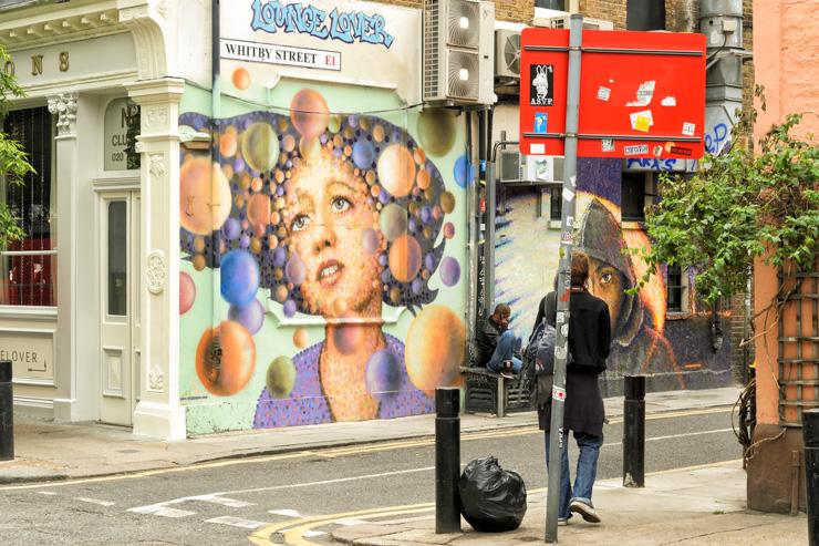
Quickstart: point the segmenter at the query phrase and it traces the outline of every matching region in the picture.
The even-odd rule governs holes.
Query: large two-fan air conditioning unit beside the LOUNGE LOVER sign
[[[495,3],[425,0],[424,101],[495,102]]]

